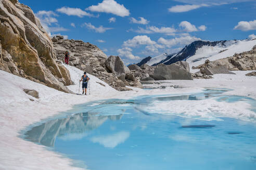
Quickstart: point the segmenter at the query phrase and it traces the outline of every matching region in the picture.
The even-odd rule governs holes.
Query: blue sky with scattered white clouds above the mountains
[[[50,35],[82,39],[125,63],[173,53],[194,40],[256,38],[250,0],[20,0]]]

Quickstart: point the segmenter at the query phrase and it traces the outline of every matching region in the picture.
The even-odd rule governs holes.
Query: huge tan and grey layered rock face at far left
[[[0,69],[70,92],[59,81],[70,76],[56,62],[52,40],[33,11],[17,2],[0,1]]]

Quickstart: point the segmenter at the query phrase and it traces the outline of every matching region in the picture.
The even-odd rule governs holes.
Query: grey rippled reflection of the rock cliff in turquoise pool
[[[81,113],[68,116],[64,119],[50,120],[46,123],[33,127],[25,133],[25,139],[54,147],[56,137],[63,139],[77,139],[86,135],[103,124],[106,120],[120,120],[122,115],[96,116],[95,113]]]

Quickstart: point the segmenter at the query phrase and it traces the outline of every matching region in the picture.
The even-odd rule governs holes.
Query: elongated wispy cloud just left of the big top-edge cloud
[[[60,13],[65,13],[68,16],[78,16],[82,18],[83,16],[93,17],[91,13],[88,13],[80,8],[70,8],[70,7],[61,7],[57,9]]]

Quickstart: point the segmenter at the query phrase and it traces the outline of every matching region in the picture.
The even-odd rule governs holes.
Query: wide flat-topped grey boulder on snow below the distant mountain
[[[171,65],[159,64],[155,68],[153,79],[155,80],[192,80],[192,75],[180,63]]]

